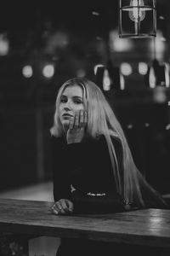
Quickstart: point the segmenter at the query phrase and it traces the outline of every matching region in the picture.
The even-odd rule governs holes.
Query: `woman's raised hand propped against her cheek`
[[[84,137],[84,129],[88,122],[88,113],[84,110],[77,112],[71,119],[69,129],[66,134],[68,144],[81,143]]]

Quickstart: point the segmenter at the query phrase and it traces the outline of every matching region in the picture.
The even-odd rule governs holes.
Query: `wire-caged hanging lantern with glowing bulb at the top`
[[[156,0],[119,0],[119,37],[156,37]]]

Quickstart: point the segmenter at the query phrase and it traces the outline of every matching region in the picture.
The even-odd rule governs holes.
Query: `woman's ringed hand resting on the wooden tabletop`
[[[56,201],[51,207],[54,214],[68,214],[73,212],[74,206],[73,203],[68,199],[60,199],[59,201]]]

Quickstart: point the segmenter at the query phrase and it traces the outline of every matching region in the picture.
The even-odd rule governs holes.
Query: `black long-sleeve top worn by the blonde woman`
[[[112,138],[122,173],[122,146]],[[105,136],[89,137],[82,143],[67,144],[64,137],[52,136],[54,201],[73,201],[75,212],[120,212],[122,199],[116,192],[111,157]],[[71,192],[71,187],[74,190]],[[144,192],[144,194],[148,194]],[[151,200],[150,195],[144,195]],[[152,201],[148,207],[155,207]]]

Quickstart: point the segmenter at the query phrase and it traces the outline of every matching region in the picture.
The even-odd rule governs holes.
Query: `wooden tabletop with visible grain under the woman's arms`
[[[52,202],[0,199],[0,232],[170,247],[170,211],[56,216]]]

